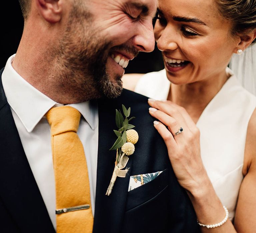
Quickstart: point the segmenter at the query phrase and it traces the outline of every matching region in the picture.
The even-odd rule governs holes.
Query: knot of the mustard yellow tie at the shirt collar
[[[53,136],[68,131],[77,132],[81,114],[70,106],[61,106],[51,108],[45,116],[51,126]]]

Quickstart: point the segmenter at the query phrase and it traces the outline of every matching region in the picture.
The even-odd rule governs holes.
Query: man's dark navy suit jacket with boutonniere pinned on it
[[[0,72],[2,76],[3,70]],[[106,196],[114,169],[115,109],[131,107],[139,141],[125,178],[117,178]],[[124,90],[117,99],[98,100],[99,146],[93,232],[200,232],[186,191],[178,184],[167,149],[153,127],[147,98]],[[30,169],[0,80],[0,232],[55,232]],[[163,171],[128,192],[131,175]],[[43,174],[42,174],[43,175]]]

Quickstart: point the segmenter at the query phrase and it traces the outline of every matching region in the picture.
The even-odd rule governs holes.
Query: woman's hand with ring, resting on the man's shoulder
[[[149,99],[148,103],[150,115],[160,121],[154,121],[154,126],[165,141],[178,182],[197,196],[210,182],[200,155],[199,129],[186,110],[173,102]],[[183,131],[173,136],[181,127]]]

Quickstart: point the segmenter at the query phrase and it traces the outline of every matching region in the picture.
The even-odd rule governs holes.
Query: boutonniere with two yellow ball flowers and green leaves
[[[125,177],[126,173],[128,172],[128,169],[122,169],[125,168],[129,160],[128,156],[134,153],[134,144],[139,139],[138,133],[134,129],[132,129],[135,126],[129,124],[130,120],[135,118],[133,116],[128,119],[131,113],[131,108],[127,110],[124,105],[122,105],[122,108],[124,116],[122,115],[120,110],[116,109],[116,126],[118,130],[114,130],[114,133],[117,136],[117,140],[110,148],[110,150],[116,150],[116,161],[113,175],[106,192],[106,195],[108,196],[111,194],[116,178]]]

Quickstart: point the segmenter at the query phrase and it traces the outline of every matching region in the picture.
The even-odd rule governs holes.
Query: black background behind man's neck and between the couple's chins
[[[7,59],[16,53],[23,31],[23,17],[19,1],[4,1],[4,6],[2,5],[1,9],[5,12],[0,14],[0,69],[5,66]],[[140,53],[137,58],[130,61],[125,73],[148,73],[163,68],[161,53],[155,48],[153,52]]]

